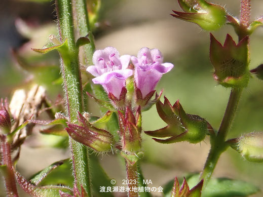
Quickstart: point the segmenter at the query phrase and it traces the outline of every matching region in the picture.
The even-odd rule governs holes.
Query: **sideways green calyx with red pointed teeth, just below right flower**
[[[155,131],[145,131],[149,136],[166,138],[153,138],[155,141],[165,144],[181,141],[198,143],[208,134],[207,121],[198,115],[185,113],[178,100],[172,106],[165,97],[164,104],[159,101],[156,106],[167,126]]]

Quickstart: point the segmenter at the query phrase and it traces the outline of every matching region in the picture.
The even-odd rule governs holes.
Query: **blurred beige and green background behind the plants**
[[[240,1],[212,2],[225,6],[231,14],[239,16]],[[164,95],[171,102],[179,99],[187,113],[204,117],[214,129],[218,129],[230,90],[217,86],[213,80],[209,60],[209,33],[195,24],[171,17],[169,14],[172,9],[179,10],[175,0],[102,0],[101,6],[99,22],[94,31],[96,48],[113,46],[121,54],[132,55],[136,55],[144,46],[158,48],[163,52],[165,62],[172,62],[175,67],[163,76],[157,90],[164,89]],[[45,86],[48,97],[53,101],[58,94],[62,95],[58,54],[54,52],[40,55],[31,51],[31,48],[42,48],[48,42],[49,34],[57,35],[53,11],[53,1],[0,2],[0,97],[10,98],[15,89],[30,86],[32,81]],[[263,2],[253,0],[251,19],[261,15]],[[237,41],[231,26],[226,25],[213,32],[221,43],[227,33]],[[263,63],[262,41],[263,29],[259,28],[251,36],[250,69]],[[18,61],[20,64],[22,62],[23,68],[18,66]],[[44,66],[45,69],[39,69]],[[263,130],[262,95],[262,82],[252,77],[243,92],[229,138]],[[93,104],[90,104],[90,111],[99,115],[98,108]],[[155,107],[143,113],[144,130],[156,130],[164,126],[165,123],[158,116]],[[64,138],[42,135],[38,130],[36,128],[23,144],[17,165],[18,171],[27,178],[53,162],[69,157],[67,149],[54,148],[65,147]],[[159,187],[175,176],[200,172],[209,147],[208,138],[196,145],[164,145],[143,134],[144,177],[151,179],[153,186]],[[115,178],[117,185],[121,186],[125,172],[120,159],[111,153],[100,157],[109,177]],[[245,180],[263,189],[262,164],[243,161],[232,149],[223,153],[214,176]],[[261,195],[262,193],[254,196]]]

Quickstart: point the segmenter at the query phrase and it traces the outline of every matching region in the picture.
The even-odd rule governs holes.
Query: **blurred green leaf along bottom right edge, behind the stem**
[[[199,181],[199,174],[190,175],[186,177],[189,187],[192,188]],[[173,181],[169,181],[164,186],[165,196],[171,195]],[[179,180],[180,182],[182,179]],[[202,197],[234,197],[234,196],[248,196],[259,191],[259,188],[251,183],[241,180],[233,180],[228,178],[211,179],[206,188],[202,191]]]

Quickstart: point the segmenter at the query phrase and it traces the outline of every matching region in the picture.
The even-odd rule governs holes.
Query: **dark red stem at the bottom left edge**
[[[2,139],[3,138],[3,139]],[[17,197],[17,188],[16,188],[16,180],[13,171],[13,164],[11,159],[11,149],[10,144],[7,142],[6,136],[1,136],[1,149],[2,149],[2,165],[6,165],[5,169],[3,169],[3,174],[5,177],[5,184],[7,190],[7,196],[9,197]]]

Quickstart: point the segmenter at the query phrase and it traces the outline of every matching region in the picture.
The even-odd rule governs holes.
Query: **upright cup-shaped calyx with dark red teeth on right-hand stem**
[[[215,81],[227,88],[247,87],[250,77],[248,36],[236,45],[231,35],[227,34],[223,46],[212,34],[210,38],[210,60],[215,69]]]

